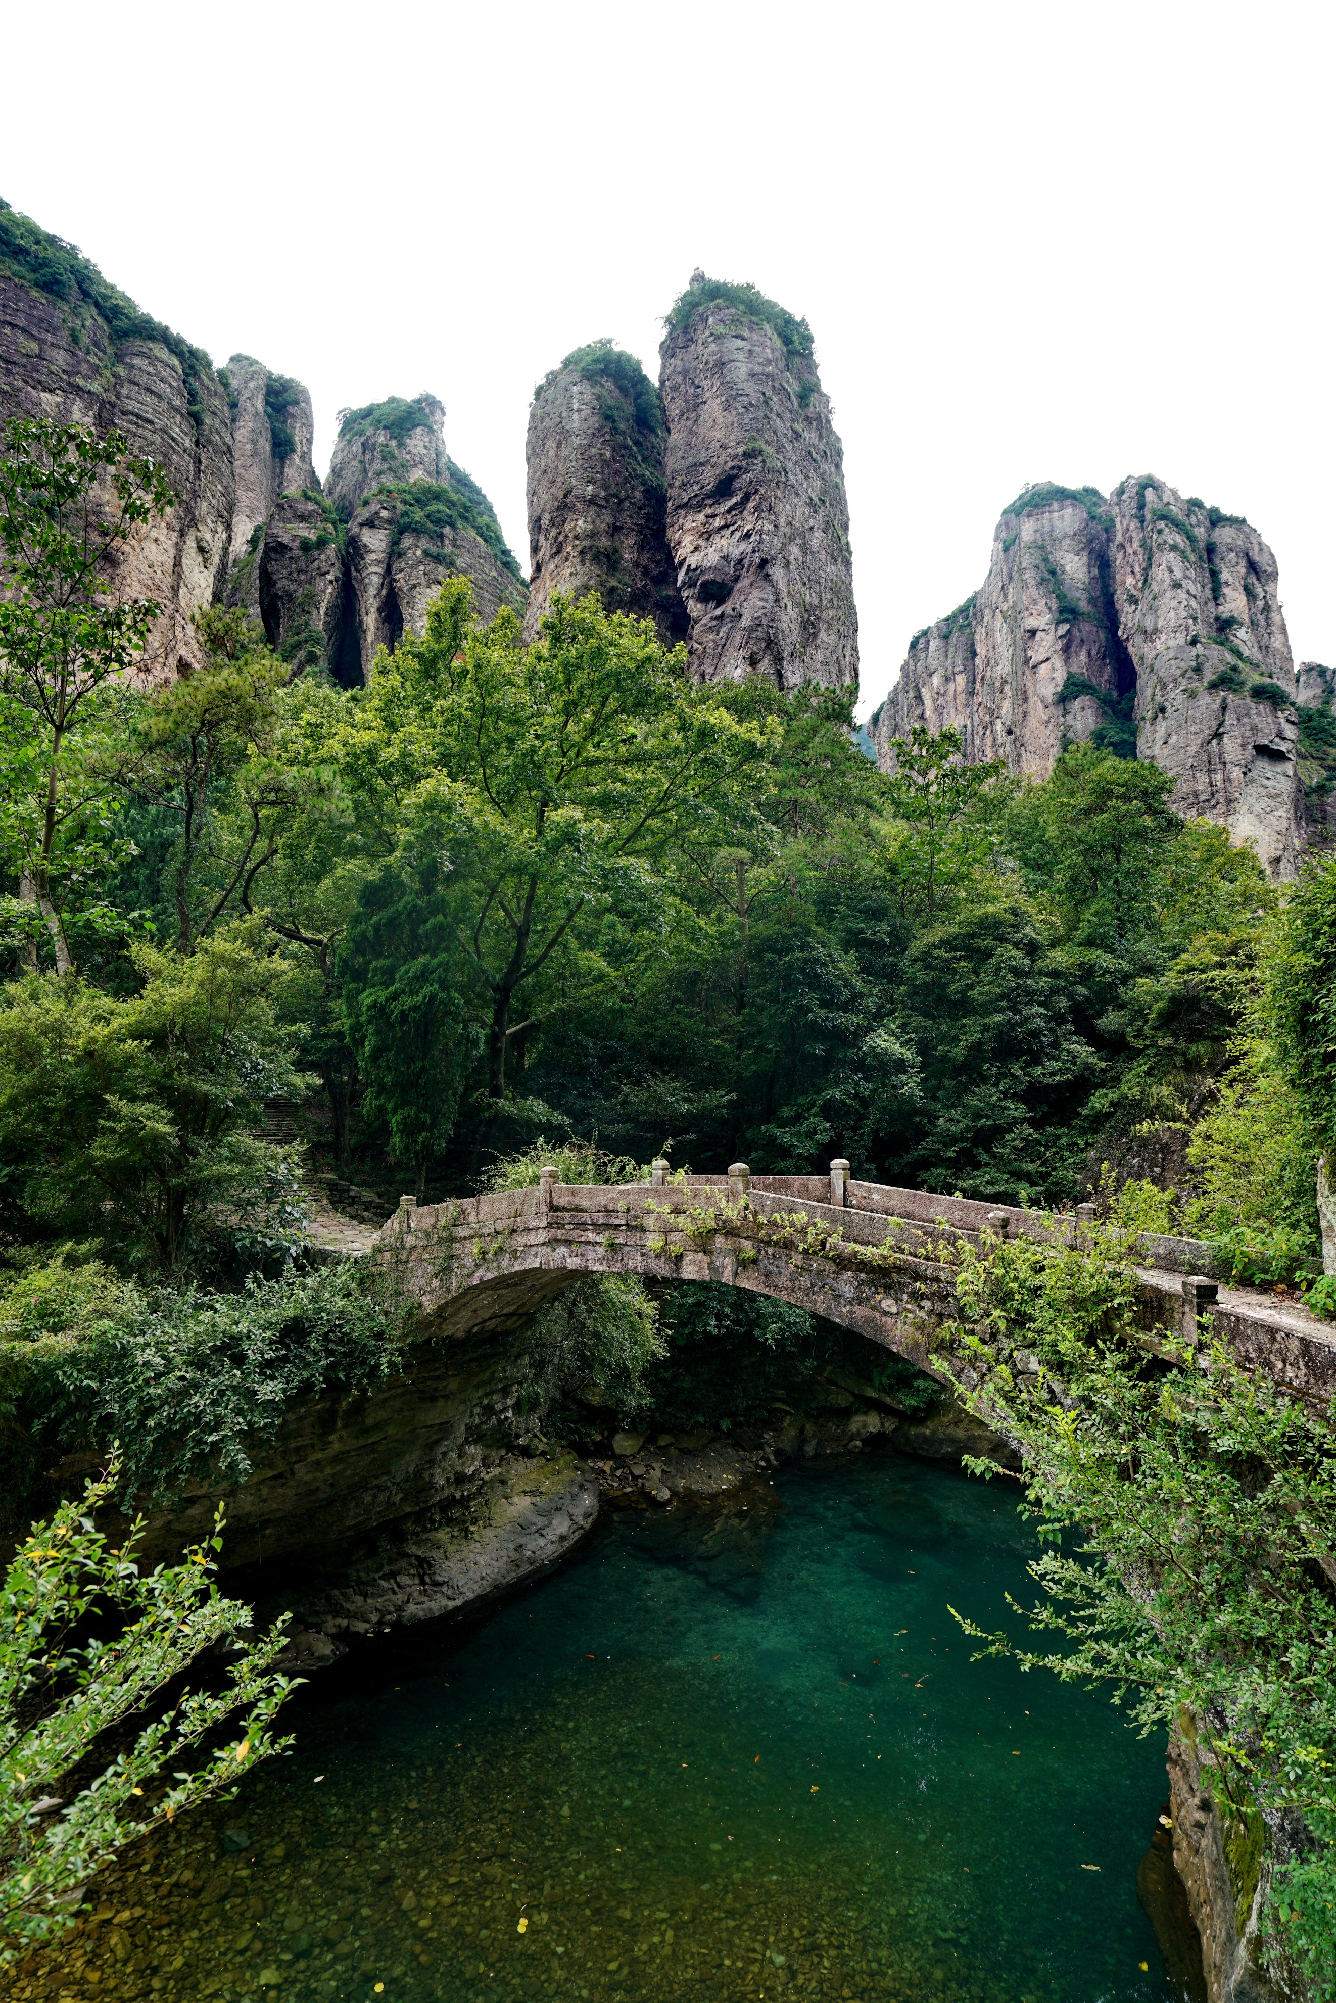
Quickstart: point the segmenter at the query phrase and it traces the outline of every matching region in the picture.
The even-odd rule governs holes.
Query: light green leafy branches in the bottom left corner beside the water
[[[286,1614],[240,1640],[250,1608],[214,1584],[222,1512],[180,1564],[144,1572],[142,1518],[116,1546],[96,1528],[118,1472],[34,1524],[0,1586],[0,1965],[68,1927],[118,1849],[290,1745],[272,1733],[294,1689],[274,1671]],[[220,1642],[222,1689],[182,1687]]]

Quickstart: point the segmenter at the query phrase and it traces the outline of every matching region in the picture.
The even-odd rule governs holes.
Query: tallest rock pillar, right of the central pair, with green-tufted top
[[[697,270],[659,353],[693,675],[857,683],[843,453],[807,320]]]

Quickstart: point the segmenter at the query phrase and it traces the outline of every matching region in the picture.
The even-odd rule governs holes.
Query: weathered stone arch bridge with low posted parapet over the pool
[[[423,1336],[513,1328],[583,1274],[715,1280],[769,1294],[855,1330],[941,1376],[933,1338],[955,1314],[949,1242],[981,1234],[1072,1242],[1090,1206],[1042,1216],[925,1190],[857,1182],[843,1160],[829,1176],[673,1176],[563,1184],[545,1168],[535,1188],[419,1206],[405,1198],[371,1256],[395,1264]],[[1216,1254],[1186,1238],[1146,1238],[1140,1268],[1146,1328],[1196,1334],[1200,1312],[1242,1362],[1308,1398],[1336,1386],[1336,1336],[1306,1310],[1224,1288]]]

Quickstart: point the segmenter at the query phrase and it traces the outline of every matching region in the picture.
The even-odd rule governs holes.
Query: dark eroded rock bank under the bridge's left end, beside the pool
[[[296,1402],[228,1492],[226,1588],[290,1608],[302,1660],[509,1590],[591,1526],[595,1482],[541,1438],[559,1370],[517,1320],[419,1342],[369,1394]],[[146,1562],[204,1536],[216,1500],[194,1482],[152,1512]]]

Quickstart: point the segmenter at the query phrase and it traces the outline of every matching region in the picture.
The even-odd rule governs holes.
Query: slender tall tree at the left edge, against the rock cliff
[[[108,677],[142,653],[154,599],[114,599],[108,571],[172,493],[152,459],[86,425],[14,417],[0,457],[0,835],[72,967],[66,907],[108,863],[106,789],[84,757]]]

